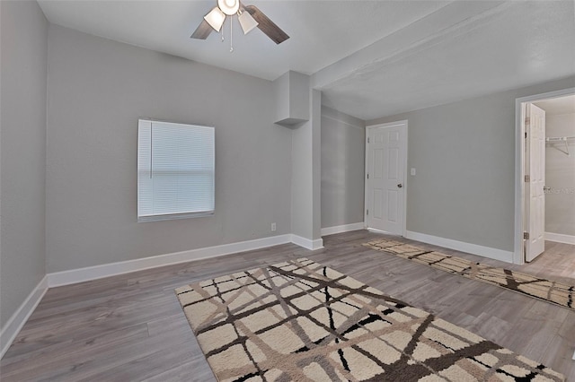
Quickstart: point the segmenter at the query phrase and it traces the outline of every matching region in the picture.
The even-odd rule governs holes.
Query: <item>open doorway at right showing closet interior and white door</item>
[[[516,250],[535,260],[545,240],[575,245],[575,89],[517,99]]]

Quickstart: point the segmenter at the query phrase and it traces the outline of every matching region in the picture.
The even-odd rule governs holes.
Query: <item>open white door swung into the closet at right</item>
[[[545,112],[534,104],[526,105],[526,261],[545,249]],[[527,179],[526,179],[527,180]]]

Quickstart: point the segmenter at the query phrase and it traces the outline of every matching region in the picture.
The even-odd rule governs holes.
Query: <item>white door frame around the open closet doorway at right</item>
[[[525,264],[523,232],[525,231],[525,121],[522,107],[524,103],[549,100],[575,94],[575,88],[534,94],[515,100],[515,230],[513,244],[513,264]]]

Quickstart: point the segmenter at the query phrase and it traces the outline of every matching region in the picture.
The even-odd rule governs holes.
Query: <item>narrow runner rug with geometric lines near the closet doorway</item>
[[[421,264],[429,265],[449,273],[459,274],[469,279],[487,282],[502,288],[517,291],[536,299],[553,302],[565,308],[575,309],[575,286],[562,282],[518,273],[466,260],[462,257],[448,256],[436,251],[405,244],[395,240],[376,239],[364,244],[365,247],[384,251]]]

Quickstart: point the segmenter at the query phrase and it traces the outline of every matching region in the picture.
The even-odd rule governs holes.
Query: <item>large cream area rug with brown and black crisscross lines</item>
[[[306,258],[176,289],[219,381],[562,381]]]

